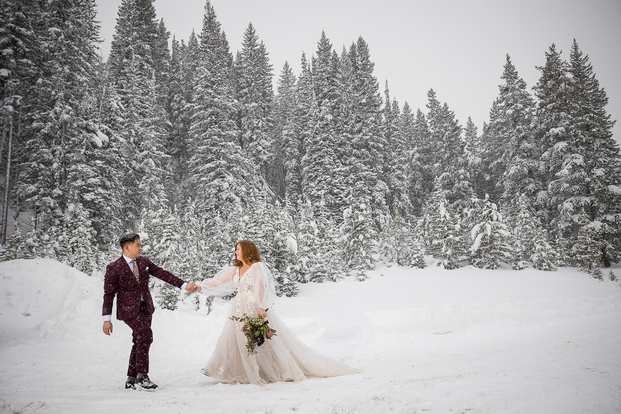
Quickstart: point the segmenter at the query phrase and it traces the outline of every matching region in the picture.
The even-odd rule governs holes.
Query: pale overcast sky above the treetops
[[[121,0],[96,0],[102,54],[110,50]],[[201,32],[204,0],[156,0],[158,17],[177,39]],[[448,103],[462,126],[468,116],[487,121],[509,53],[532,88],[535,66],[555,43],[569,58],[573,38],[589,55],[609,97],[608,111],[620,121],[621,0],[212,0],[233,54],[248,22],[265,42],[274,74],[285,61],[300,71],[302,52],[317,50],[322,29],[340,53],[358,35],[369,44],[380,90],[388,80],[402,105],[426,112],[427,91]]]

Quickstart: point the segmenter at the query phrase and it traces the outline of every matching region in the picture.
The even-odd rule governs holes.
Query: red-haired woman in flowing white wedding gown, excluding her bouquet
[[[250,240],[238,242],[235,264],[204,280],[199,290],[205,295],[224,296],[236,288],[224,329],[203,374],[220,382],[262,385],[361,372],[307,347],[270,309],[276,298],[273,277]],[[230,316],[244,313],[251,318],[262,316],[276,330],[276,335],[256,347],[256,354],[251,356],[246,349],[243,324],[230,320]]]

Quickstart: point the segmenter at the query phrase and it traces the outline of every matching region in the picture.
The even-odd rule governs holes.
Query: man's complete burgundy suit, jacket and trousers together
[[[135,260],[139,282],[123,256],[107,265],[102,310],[102,315],[112,315],[112,303],[117,295],[117,319],[132,328],[134,346],[129,357],[128,377],[136,377],[138,372],[149,372],[149,348],[153,342],[151,318],[155,311],[149,292],[149,277],[153,275],[178,288],[185,283],[146,256],[138,256]]]

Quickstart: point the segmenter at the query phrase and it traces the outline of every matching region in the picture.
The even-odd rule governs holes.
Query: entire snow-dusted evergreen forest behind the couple
[[[104,61],[94,0],[2,1],[0,260],[91,274],[140,232],[195,282],[251,239],[287,296],[430,256],[599,278],[619,262],[615,121],[576,40],[542,51],[536,85],[507,55],[478,131],[433,90],[425,108],[397,102],[362,37],[337,51],[321,33],[294,73],[257,33],[232,47],[207,0],[200,32],[176,39],[153,0],[122,0]],[[176,288],[153,288],[176,308]]]

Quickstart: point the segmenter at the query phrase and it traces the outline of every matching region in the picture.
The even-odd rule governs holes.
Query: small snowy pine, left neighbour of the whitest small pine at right
[[[440,178],[435,179],[418,228],[425,241],[425,251],[435,258],[434,265],[444,269],[459,267],[459,262],[465,258],[465,234],[457,214],[446,200]]]

